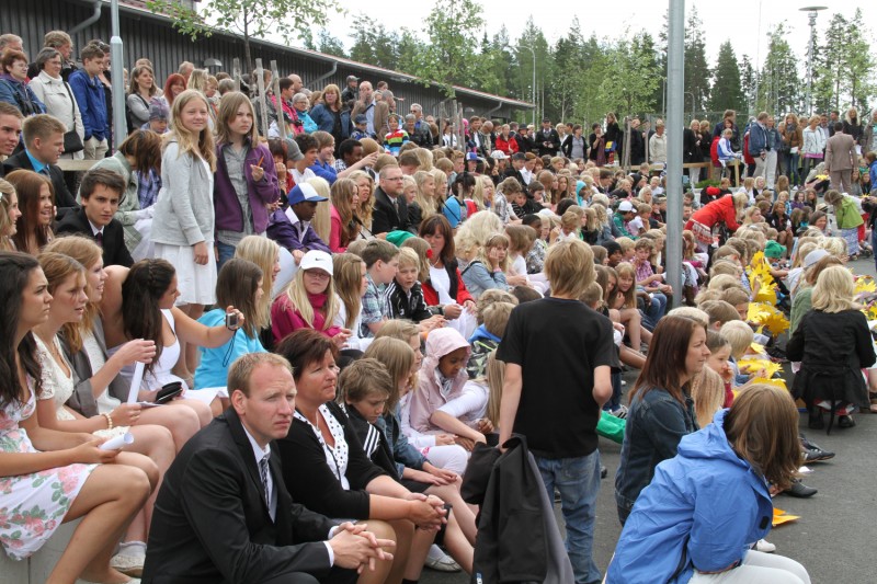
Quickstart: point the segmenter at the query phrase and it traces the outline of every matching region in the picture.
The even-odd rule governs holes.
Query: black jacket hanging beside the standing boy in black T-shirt
[[[553,502],[526,438],[514,436],[504,446],[500,455],[476,445],[463,478],[463,499],[481,507],[472,582],[573,582]]]

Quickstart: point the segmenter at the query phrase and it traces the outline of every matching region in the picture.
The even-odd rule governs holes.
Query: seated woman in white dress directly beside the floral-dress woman
[[[147,474],[157,474],[157,484],[146,506],[128,526],[125,542],[122,543],[122,553],[114,557],[110,564],[128,575],[139,575],[146,557],[146,540],[158,485],[175,455],[173,439],[171,433],[161,426],[129,427],[127,424],[136,422],[139,417],[139,406],[133,410],[118,408],[113,410],[115,420],[119,422],[115,424],[110,413],[86,417],[65,405],[73,394],[77,378],[72,366],[64,356],[58,333],[62,327],[80,322],[86,313],[88,305],[86,270],[72,257],[60,253],[44,252],[39,254],[38,260],[54,300],[48,320],[34,328],[36,351],[43,367],[43,393],[37,400],[36,413],[41,425],[50,430],[87,432],[101,438],[112,438],[126,433],[134,436],[134,444],[126,446],[126,451],[116,460],[136,466]]]

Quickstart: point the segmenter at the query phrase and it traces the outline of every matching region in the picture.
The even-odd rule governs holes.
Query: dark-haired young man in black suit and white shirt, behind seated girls
[[[125,192],[125,180],[109,169],[91,169],[82,176],[82,206],[58,222],[58,233],[81,233],[103,248],[103,265],[130,267],[134,260],[125,247],[122,222],[113,219]]]

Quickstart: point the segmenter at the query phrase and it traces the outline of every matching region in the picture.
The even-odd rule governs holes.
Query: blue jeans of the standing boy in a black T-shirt
[[[554,501],[555,489],[560,493],[567,553],[576,573],[576,584],[600,583],[603,575],[592,553],[600,492],[600,450],[579,458],[535,458],[548,499]]]

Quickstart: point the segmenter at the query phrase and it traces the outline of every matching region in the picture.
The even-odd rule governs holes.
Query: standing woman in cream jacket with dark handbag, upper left
[[[27,84],[36,98],[46,106],[46,113],[57,117],[68,131],[76,131],[80,141],[86,139],[86,127],[82,125],[82,116],[79,105],[76,103],[70,85],[61,78],[61,66],[64,59],[61,54],[55,48],[44,48],[36,56],[36,66],[39,75]],[[65,145],[65,150],[69,145]],[[75,150],[75,149],[70,149]],[[71,160],[83,158],[82,149],[76,151],[65,151],[61,157]]]

